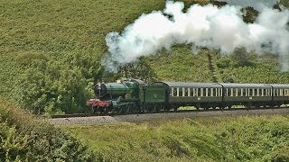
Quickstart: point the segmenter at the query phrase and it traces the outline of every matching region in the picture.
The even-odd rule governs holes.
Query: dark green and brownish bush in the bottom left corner
[[[77,139],[1,100],[0,161],[94,161],[95,159]]]

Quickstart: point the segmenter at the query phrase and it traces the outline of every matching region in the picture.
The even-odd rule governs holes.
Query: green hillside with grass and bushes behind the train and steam
[[[214,3],[184,2],[186,8]],[[287,1],[281,3],[288,6]],[[164,4],[154,0],[4,0],[0,4],[0,94],[35,113],[86,112],[86,99],[93,97],[91,87],[101,78],[210,82],[206,52],[214,53],[219,81],[288,83],[288,73],[280,72],[277,58],[255,57],[252,65],[239,66],[238,60],[218,51],[200,49],[192,54],[191,47],[182,45],[141,58],[140,64],[123,67],[117,74],[107,73],[100,66],[107,52],[107,33],[122,31],[141,14],[163,10]],[[254,21],[256,12],[247,10],[252,10],[248,14],[252,17],[244,19]]]

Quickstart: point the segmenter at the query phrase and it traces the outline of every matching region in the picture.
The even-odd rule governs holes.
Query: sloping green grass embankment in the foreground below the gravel
[[[288,161],[289,116],[63,127],[107,161]]]

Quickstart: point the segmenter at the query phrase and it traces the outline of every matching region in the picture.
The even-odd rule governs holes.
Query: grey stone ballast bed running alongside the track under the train
[[[232,108],[222,110],[183,110],[177,112],[153,112],[134,114],[67,114],[51,116],[51,123],[63,124],[101,124],[116,122],[142,122],[158,120],[177,120],[196,117],[225,116],[225,115],[265,115],[289,113],[288,107],[274,108]]]

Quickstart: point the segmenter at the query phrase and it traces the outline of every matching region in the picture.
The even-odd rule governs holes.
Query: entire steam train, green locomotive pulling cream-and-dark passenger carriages
[[[181,106],[224,109],[280,106],[289,103],[289,85],[154,82],[139,79],[102,83],[94,87],[97,98],[87,101],[93,112],[129,113],[177,111]]]

